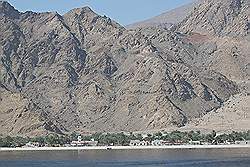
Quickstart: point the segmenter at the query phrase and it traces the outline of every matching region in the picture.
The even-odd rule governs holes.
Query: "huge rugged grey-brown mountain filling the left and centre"
[[[204,65],[218,46],[184,25],[127,30],[88,7],[0,1],[0,133],[157,130],[217,110],[241,87]]]

